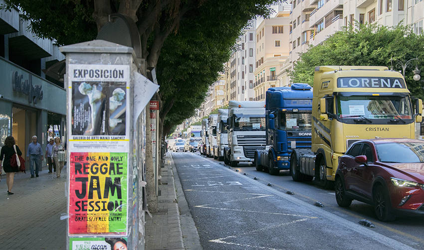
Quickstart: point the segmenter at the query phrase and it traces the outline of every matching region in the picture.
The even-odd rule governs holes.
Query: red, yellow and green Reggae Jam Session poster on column
[[[69,236],[127,235],[128,153],[70,153]]]

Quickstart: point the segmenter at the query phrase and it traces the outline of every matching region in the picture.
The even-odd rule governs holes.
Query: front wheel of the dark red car
[[[396,219],[392,213],[389,192],[382,185],[377,185],[373,192],[374,212],[380,221],[393,221]]]

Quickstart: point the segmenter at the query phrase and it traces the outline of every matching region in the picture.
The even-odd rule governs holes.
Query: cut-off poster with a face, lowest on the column
[[[69,250],[127,250],[126,238],[69,238]]]

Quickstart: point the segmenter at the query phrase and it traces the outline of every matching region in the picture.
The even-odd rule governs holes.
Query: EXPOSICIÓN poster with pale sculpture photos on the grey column
[[[127,65],[69,65],[71,151],[128,151],[129,84]]]

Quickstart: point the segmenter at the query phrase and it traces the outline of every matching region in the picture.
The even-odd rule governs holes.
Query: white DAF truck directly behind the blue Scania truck
[[[265,149],[265,102],[229,101],[228,148],[224,161],[236,167],[239,162],[253,162],[256,149]]]

